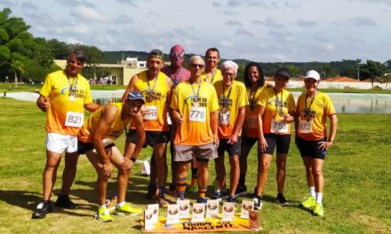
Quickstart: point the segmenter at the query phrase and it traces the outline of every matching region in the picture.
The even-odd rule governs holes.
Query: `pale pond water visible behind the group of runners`
[[[119,101],[124,90],[92,90],[92,98],[99,104],[105,104],[109,99]],[[295,100],[300,92],[292,92]],[[391,113],[391,94],[370,93],[329,93],[337,113]],[[7,92],[7,98],[24,101],[36,101],[38,94],[30,92]]]

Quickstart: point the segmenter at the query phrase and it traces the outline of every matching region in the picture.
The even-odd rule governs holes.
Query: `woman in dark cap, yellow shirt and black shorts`
[[[260,209],[260,196],[266,184],[267,172],[272,155],[276,148],[276,178],[278,194],[275,199],[282,206],[288,206],[283,196],[285,183],[285,164],[291,144],[291,122],[294,121],[295,102],[285,86],[290,75],[284,68],[275,72],[275,87],[262,90],[258,102],[259,150],[260,155],[257,189],[254,196],[254,207]]]

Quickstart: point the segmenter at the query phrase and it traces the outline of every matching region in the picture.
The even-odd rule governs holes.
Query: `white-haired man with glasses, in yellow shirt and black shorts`
[[[228,201],[235,202],[235,191],[239,182],[241,154],[241,135],[246,106],[249,100],[246,88],[242,82],[236,82],[237,64],[227,60],[222,65],[223,80],[214,83],[219,97],[219,158],[215,159],[216,175],[219,190],[212,199],[227,197],[226,168],[224,166],[224,152],[228,152],[230,172],[230,192]]]

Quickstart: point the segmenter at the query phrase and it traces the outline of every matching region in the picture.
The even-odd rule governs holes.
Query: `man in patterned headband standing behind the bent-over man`
[[[167,180],[167,142],[170,140],[169,126],[167,122],[167,109],[172,96],[172,79],[160,70],[164,66],[163,52],[152,50],[147,60],[148,70],[135,74],[125,90],[123,101],[132,90],[140,91],[146,103],[143,106],[144,127],[147,132],[146,144],[154,148],[156,160],[156,175],[159,196],[157,201],[161,207],[167,207],[168,202],[164,198],[165,183]],[[135,125],[131,125],[131,130],[126,136],[126,141],[130,141],[132,152],[138,136]],[[155,181],[150,181],[154,184]]]

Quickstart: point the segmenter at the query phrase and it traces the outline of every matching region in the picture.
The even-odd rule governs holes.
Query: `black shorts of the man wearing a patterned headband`
[[[163,144],[170,141],[170,132],[169,131],[146,131],[146,137],[144,142],[144,148],[148,144],[152,147],[155,147],[156,144]],[[139,135],[137,131],[131,129],[126,135],[126,141],[136,144],[139,141]]]

